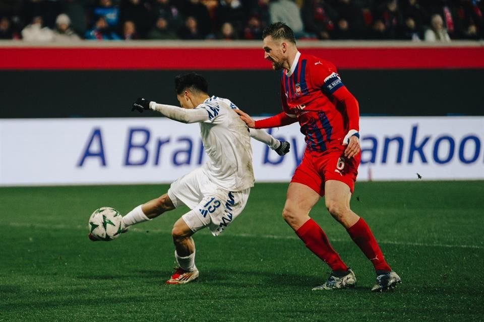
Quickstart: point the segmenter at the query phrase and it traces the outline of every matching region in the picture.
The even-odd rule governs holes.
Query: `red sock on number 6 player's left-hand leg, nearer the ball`
[[[348,269],[338,253],[331,247],[328,237],[316,221],[310,218],[296,230],[296,234],[304,241],[306,247],[328,264],[333,271]]]

